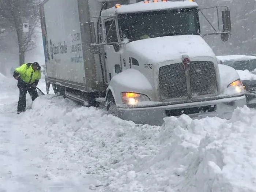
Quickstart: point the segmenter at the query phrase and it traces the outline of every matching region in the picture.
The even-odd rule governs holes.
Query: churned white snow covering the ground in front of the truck
[[[16,83],[0,75],[1,192],[256,192],[254,109],[154,127],[49,94],[18,115]]]

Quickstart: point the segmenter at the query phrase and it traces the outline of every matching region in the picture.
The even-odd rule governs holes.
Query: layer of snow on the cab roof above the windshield
[[[109,14],[123,14],[123,13],[132,13],[132,12],[144,12],[144,11],[155,11],[155,10],[164,10],[164,9],[175,9],[175,8],[190,8],[198,7],[197,3],[189,0],[184,1],[140,1],[138,3],[128,4],[128,5],[118,5],[106,10]]]

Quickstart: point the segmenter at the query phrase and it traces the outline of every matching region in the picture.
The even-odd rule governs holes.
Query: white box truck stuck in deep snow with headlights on
[[[231,33],[222,13],[221,39]],[[246,105],[236,70],[218,65],[193,0],[45,0],[40,5],[47,92],[135,123],[167,116],[230,118]],[[204,16],[204,15],[203,15]],[[218,15],[219,21],[219,15]]]

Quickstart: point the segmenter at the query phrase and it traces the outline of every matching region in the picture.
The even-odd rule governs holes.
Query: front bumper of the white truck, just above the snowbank
[[[246,105],[245,95],[174,105],[142,108],[117,108],[116,115],[123,120],[131,120],[134,123],[162,125],[164,122],[163,118],[168,116],[179,117],[183,111],[193,119],[215,116],[229,119],[231,118],[234,109],[243,107],[244,105]]]

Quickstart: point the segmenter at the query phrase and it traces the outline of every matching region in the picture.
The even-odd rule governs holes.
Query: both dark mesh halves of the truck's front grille
[[[190,63],[189,75],[192,97],[218,93],[214,63],[193,61]],[[159,68],[159,91],[161,99],[188,97],[182,63]]]

